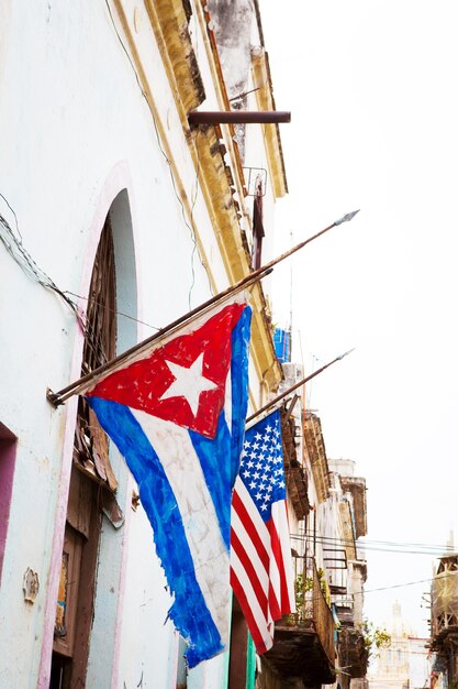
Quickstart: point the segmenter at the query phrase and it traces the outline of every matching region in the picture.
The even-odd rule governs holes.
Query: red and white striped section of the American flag
[[[231,514],[231,586],[258,654],[273,643],[273,622],[294,611],[287,504],[272,504],[264,522],[238,477]]]

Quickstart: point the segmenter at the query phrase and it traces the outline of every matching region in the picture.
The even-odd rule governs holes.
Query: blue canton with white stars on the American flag
[[[272,503],[286,500],[280,412],[273,412],[245,434],[239,477],[264,522],[272,513]]]

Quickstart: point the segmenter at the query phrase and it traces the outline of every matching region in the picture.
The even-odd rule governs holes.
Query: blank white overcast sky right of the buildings
[[[312,367],[356,347],[309,390],[329,458],[357,462],[369,540],[458,538],[458,6],[436,0],[261,0],[290,188],[278,251],[351,223],[276,269],[275,317]],[[290,233],[292,232],[292,239]],[[300,343],[299,343],[300,342]],[[428,579],[432,558],[368,551],[367,590]],[[417,634],[428,583],[368,592],[377,624],[400,600]]]

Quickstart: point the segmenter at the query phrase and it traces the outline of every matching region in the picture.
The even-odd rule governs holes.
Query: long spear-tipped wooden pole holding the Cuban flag
[[[239,292],[244,287],[250,286],[258,280],[262,280],[262,277],[266,277],[272,272],[275,265],[277,265],[281,261],[284,261],[284,259],[288,259],[291,254],[295,253],[300,249],[303,249],[303,247],[305,247],[306,244],[310,244],[310,242],[314,241],[315,239],[317,239],[319,237],[321,237],[322,234],[324,234],[332,228],[337,227],[338,225],[342,225],[343,222],[349,222],[350,220],[353,220],[353,218],[356,216],[357,212],[359,212],[359,210],[354,210],[351,212],[346,214],[338,220],[335,220],[332,225],[328,225],[327,227],[325,227],[324,230],[321,230],[320,232],[316,232],[316,234],[309,237],[309,239],[305,239],[303,242],[300,242],[299,244],[297,244],[289,251],[286,251],[284,253],[277,256],[272,261],[269,261],[269,263],[266,263],[266,265],[261,265],[256,271],[253,271],[252,273],[249,273],[249,275],[246,275],[245,277],[239,280],[237,283],[235,283],[235,285],[231,285],[223,292],[220,292],[219,294],[214,295],[213,297],[211,297],[210,299],[208,299],[200,306],[197,306],[191,311],[188,311],[188,314],[186,314],[185,316],[181,316],[180,318],[177,318],[177,320],[174,320],[168,326],[165,326],[164,328],[155,332],[155,335],[152,335],[150,337],[146,338],[145,340],[142,340],[137,344],[134,344],[133,347],[127,349],[125,352],[122,352],[118,357],[110,359],[110,361],[107,361],[105,363],[98,367],[90,373],[82,375],[77,381],[74,381],[72,383],[70,383],[66,387],[63,387],[58,392],[53,392],[52,390],[48,389],[46,391],[46,397],[48,402],[51,402],[54,406],[59,406],[60,404],[64,404],[64,402],[68,400],[68,397],[71,397],[72,395],[77,394],[78,389],[80,389],[82,385],[88,383],[93,378],[100,375],[101,373],[105,373],[108,370],[110,370],[111,368],[113,368],[114,365],[116,365],[118,363],[126,359],[127,357],[131,357],[131,354],[134,354],[138,352],[139,350],[142,350],[143,348],[148,347],[155,340],[159,340],[166,335],[169,335],[179,326],[182,326],[185,322],[192,320],[194,316],[200,315],[201,313],[203,313],[205,309],[210,308],[217,302],[226,297],[230,297],[231,295]]]

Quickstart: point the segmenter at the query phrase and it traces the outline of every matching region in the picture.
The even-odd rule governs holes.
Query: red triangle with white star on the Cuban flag
[[[224,406],[231,336],[244,308],[225,306],[196,330],[107,375],[87,396],[118,402],[213,438]]]

